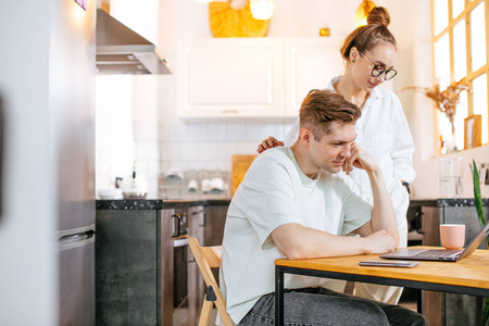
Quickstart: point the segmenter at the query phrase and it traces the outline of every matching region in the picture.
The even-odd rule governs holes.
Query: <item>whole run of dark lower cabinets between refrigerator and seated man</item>
[[[204,206],[177,202],[141,209],[145,202],[102,202],[97,209],[96,317],[98,326],[195,326],[205,292],[188,238],[221,244],[228,202]],[[105,209],[108,206],[108,209]],[[185,218],[177,218],[176,216]]]

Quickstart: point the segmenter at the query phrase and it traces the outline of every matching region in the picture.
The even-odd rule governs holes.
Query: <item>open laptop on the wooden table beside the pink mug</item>
[[[381,254],[380,258],[388,260],[412,260],[412,261],[441,261],[441,262],[457,262],[466,256],[469,256],[489,235],[489,221],[472,239],[471,243],[465,249],[447,250],[447,249],[419,249],[419,248],[403,248],[390,253]]]

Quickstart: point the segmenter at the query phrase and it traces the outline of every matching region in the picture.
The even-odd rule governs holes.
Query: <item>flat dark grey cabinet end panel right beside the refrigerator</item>
[[[97,211],[97,325],[161,325],[160,212]]]

